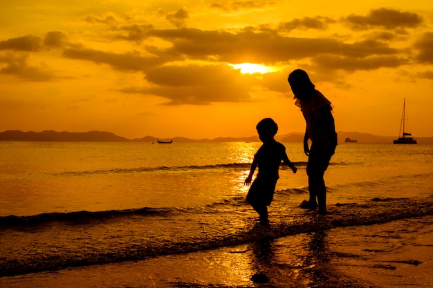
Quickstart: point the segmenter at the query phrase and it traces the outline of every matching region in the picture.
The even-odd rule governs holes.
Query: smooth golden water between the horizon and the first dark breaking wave
[[[0,216],[234,203],[259,146],[0,142]],[[306,193],[302,144],[286,148],[300,171],[282,167],[277,190]],[[329,201],[431,195],[432,160],[433,144],[340,144],[326,172]]]

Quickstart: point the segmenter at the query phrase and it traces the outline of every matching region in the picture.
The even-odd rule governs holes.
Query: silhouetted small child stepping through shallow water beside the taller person
[[[259,172],[250,186],[246,200],[250,203],[251,207],[259,213],[260,222],[266,223],[268,222],[267,206],[269,206],[273,200],[275,185],[279,178],[279,165],[283,161],[284,164],[292,169],[293,173],[296,173],[297,168],[288,160],[286,147],[274,139],[278,131],[278,126],[273,119],[262,119],[259,124],[257,124],[256,129],[263,144],[254,155],[250,174],[244,184],[251,184],[252,175],[254,175],[255,169],[258,166]]]

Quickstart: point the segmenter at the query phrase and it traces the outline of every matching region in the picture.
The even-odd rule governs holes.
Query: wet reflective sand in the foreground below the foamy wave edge
[[[337,227],[195,253],[3,277],[0,287],[431,287],[432,224],[433,216],[425,215]]]

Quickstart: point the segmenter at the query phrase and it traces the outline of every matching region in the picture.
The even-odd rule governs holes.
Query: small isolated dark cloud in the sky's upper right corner
[[[350,15],[345,21],[356,30],[378,27],[385,29],[416,28],[423,23],[423,18],[416,13],[400,12],[387,8],[371,10],[367,16]]]

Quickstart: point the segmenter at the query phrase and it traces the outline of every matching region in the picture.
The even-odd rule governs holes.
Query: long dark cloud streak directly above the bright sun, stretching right
[[[173,31],[174,32],[174,31]],[[171,35],[172,50],[192,59],[211,59],[229,63],[265,63],[315,57],[324,53],[347,57],[393,55],[396,49],[380,41],[359,41],[344,44],[331,38],[284,37],[275,32],[229,32],[178,30]],[[155,34],[157,35],[157,34]],[[161,32],[162,37],[167,31]]]

